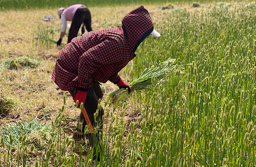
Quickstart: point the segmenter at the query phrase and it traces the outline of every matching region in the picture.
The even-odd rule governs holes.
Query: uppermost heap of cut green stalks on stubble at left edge
[[[9,58],[2,62],[0,64],[0,70],[5,68],[5,69],[18,69],[21,67],[31,67],[35,68],[39,65],[40,63],[37,60],[34,60],[32,58],[28,58],[25,56],[21,57],[15,57],[15,58]]]

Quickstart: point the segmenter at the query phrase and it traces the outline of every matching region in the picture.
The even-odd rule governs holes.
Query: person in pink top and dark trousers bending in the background
[[[77,36],[77,33],[82,23],[82,34],[85,32],[84,25],[88,32],[93,31],[93,29],[91,28],[91,13],[85,5],[71,5],[67,9],[61,7],[58,9],[58,15],[62,22],[62,28],[59,40],[57,42],[57,46],[60,46],[62,38],[65,35],[67,21],[72,21],[69,29],[68,43]]]

